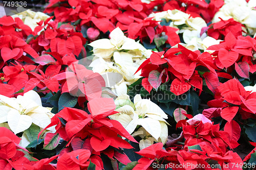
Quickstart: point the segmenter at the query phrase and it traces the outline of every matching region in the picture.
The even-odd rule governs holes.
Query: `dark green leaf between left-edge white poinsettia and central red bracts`
[[[64,109],[65,107],[74,107],[77,103],[77,97],[70,95],[69,93],[62,93],[59,97],[59,110]]]

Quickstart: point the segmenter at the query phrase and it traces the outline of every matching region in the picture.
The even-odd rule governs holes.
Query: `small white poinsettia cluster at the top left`
[[[26,10],[24,12],[12,15],[12,17],[22,19],[24,24],[29,26],[31,30],[34,31],[35,28],[38,26],[37,22],[40,22],[41,20],[45,21],[50,16],[42,12],[34,12],[31,10]],[[40,34],[40,32],[38,32],[38,34]]]

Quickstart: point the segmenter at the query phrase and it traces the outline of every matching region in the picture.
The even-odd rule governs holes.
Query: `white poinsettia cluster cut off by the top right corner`
[[[256,33],[256,0],[225,0],[225,4],[215,14],[212,23],[233,18],[234,20],[245,25],[248,33],[254,35]]]

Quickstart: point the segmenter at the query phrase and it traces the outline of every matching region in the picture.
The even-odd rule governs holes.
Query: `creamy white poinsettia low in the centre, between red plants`
[[[141,99],[140,94],[135,95],[134,103],[131,102],[129,95],[122,94],[115,100],[116,111],[110,118],[117,120],[122,126],[132,134],[137,126],[141,126],[133,136],[140,136],[140,149],[153,144],[154,141],[167,141],[168,124],[167,114],[148,99]],[[169,125],[169,124],[168,124]]]

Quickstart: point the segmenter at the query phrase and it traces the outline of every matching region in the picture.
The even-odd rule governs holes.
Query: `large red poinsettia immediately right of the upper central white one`
[[[142,86],[150,92],[153,87],[157,90],[161,83],[170,79],[173,80],[170,85],[170,91],[176,95],[183,94],[191,86],[202,90],[203,80],[195,69],[198,66],[203,66],[210,71],[203,75],[206,84],[211,91],[215,92],[219,85],[219,80],[214,69],[216,68],[214,60],[212,60],[210,54],[200,54],[199,51],[192,52],[181,45],[178,45],[178,47],[170,48],[163,58],[161,58],[163,52],[153,53],[150,59],[145,60],[140,65],[138,70],[142,69],[141,76],[145,77],[142,80]],[[176,55],[179,52],[181,54]],[[168,68],[164,66],[166,63]]]

